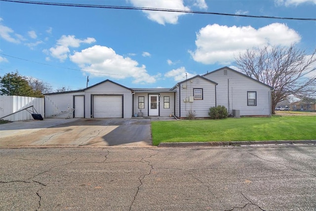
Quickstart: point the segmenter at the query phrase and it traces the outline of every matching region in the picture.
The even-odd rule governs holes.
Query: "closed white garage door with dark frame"
[[[121,95],[94,95],[94,118],[123,118],[123,96]]]

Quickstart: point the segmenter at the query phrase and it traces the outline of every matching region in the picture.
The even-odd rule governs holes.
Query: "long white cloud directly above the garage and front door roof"
[[[89,71],[95,77],[111,77],[115,79],[134,78],[135,84],[155,83],[155,76],[147,73],[146,66],[129,57],[118,55],[112,48],[100,45],[75,52],[70,56],[72,62],[83,71]]]

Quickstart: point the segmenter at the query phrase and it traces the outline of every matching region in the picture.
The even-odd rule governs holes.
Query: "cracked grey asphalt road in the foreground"
[[[1,211],[315,211],[316,145],[0,149]]]

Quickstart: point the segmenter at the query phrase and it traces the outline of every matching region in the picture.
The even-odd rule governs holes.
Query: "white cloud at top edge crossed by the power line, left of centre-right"
[[[133,6],[136,7],[149,7],[159,9],[177,9],[177,10],[190,10],[188,6],[185,6],[183,0],[129,0]],[[201,0],[202,1],[202,0]],[[156,21],[159,24],[165,25],[165,23],[177,24],[178,18],[181,15],[185,15],[183,12],[164,12],[164,11],[148,11],[143,10],[147,14],[147,17]]]

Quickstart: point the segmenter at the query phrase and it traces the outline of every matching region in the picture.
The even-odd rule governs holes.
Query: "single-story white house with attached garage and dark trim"
[[[45,117],[131,118],[138,116],[209,117],[210,107],[224,105],[230,114],[271,116],[271,91],[229,67],[197,75],[172,88],[129,88],[105,80],[84,89],[45,94]]]

